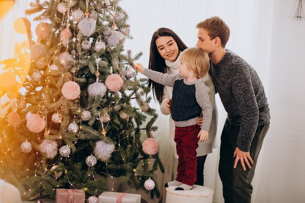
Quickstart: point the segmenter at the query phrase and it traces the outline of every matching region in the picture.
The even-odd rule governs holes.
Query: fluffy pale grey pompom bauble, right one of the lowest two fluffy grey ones
[[[111,156],[111,153],[114,151],[114,148],[114,144],[108,144],[101,140],[96,142],[94,153],[98,159],[102,160],[103,162],[107,162]]]

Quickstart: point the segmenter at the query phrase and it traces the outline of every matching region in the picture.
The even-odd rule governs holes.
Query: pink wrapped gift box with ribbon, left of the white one
[[[55,203],[85,203],[82,189],[56,189]]]

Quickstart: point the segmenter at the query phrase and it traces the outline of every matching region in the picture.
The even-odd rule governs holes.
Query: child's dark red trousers
[[[176,181],[186,185],[194,185],[197,173],[197,138],[201,127],[197,124],[187,127],[176,127],[175,138],[178,158]]]

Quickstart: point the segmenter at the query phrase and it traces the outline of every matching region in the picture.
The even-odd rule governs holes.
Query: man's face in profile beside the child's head
[[[209,56],[214,52],[215,50],[215,38],[211,39],[210,36],[208,35],[208,31],[206,31],[203,28],[200,28],[198,30],[198,41],[196,44],[196,47],[200,47],[204,51],[206,51]]]

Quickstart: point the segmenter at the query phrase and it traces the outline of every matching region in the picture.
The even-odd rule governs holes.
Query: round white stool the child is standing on
[[[175,190],[178,186],[166,188],[166,203],[212,203],[213,190],[201,185],[193,185],[191,190]]]

